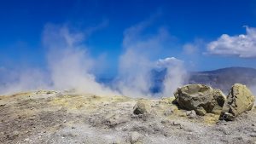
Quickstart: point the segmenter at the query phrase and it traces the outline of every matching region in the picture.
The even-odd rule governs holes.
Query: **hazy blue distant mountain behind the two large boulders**
[[[208,84],[222,89],[225,93],[235,83],[256,85],[256,69],[248,67],[228,67],[214,71],[190,72],[189,84]]]

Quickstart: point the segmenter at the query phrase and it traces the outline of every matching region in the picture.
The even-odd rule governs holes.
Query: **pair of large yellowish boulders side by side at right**
[[[242,112],[252,109],[254,96],[246,85],[234,84],[226,96],[219,89],[203,84],[189,84],[178,88],[174,93],[174,103],[179,108],[192,111],[197,115],[219,114],[220,120],[234,120]]]

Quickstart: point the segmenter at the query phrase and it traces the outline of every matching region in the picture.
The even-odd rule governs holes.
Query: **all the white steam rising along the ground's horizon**
[[[94,73],[97,66],[101,65],[97,58],[90,56],[84,44],[88,35],[96,31],[96,27],[91,31],[75,32],[67,26],[46,25],[42,42],[47,68],[24,67],[22,70],[16,68],[9,71],[2,66],[0,94],[37,89],[75,89],[80,93],[94,95],[152,97],[151,72],[154,69],[166,69],[160,96],[172,96],[185,78],[183,61],[173,57],[159,60],[159,55],[166,49],[166,43],[172,41],[172,37],[165,28],[160,28],[154,34],[144,34],[143,30],[150,21],[143,21],[125,30],[124,53],[119,56],[119,74],[111,85],[113,89],[96,82]],[[99,57],[101,59],[101,55]]]

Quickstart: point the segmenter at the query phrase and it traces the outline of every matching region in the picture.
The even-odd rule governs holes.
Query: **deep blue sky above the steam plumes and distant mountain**
[[[96,74],[114,75],[127,49],[125,32],[142,23],[147,25],[134,43],[161,36],[162,29],[167,35],[160,52],[149,56],[152,60],[176,57],[189,71],[256,68],[255,0],[6,0],[0,2],[0,20],[2,68],[47,68],[44,31],[54,25],[84,33],[81,43],[90,57],[104,63]],[[248,31],[243,26],[249,26]],[[221,38],[223,34],[228,37]],[[239,38],[241,34],[245,37]]]

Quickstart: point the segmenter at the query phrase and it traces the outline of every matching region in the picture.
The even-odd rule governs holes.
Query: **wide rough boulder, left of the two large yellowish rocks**
[[[225,101],[221,90],[203,84],[189,84],[177,88],[174,96],[178,107],[195,110],[198,115],[205,115],[207,112],[220,114]]]

